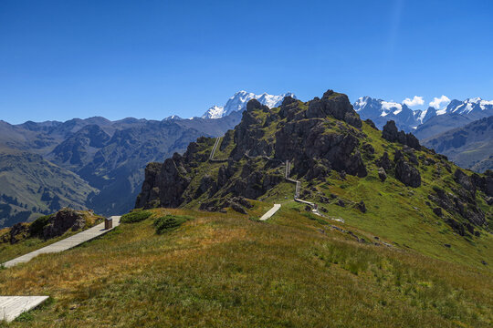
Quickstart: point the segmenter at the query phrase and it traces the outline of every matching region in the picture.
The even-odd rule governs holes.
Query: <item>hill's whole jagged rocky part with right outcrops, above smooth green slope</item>
[[[429,204],[431,215],[453,229],[466,236],[477,234],[477,227],[488,227],[481,206],[493,202],[493,175],[467,175],[461,170],[454,175],[456,167],[445,156],[425,149],[392,121],[382,133],[372,122],[363,123],[348,98],[331,90],[305,103],[285,97],[278,108],[250,100],[240,124],[224,138],[199,138],[183,156],[174,154],[163,164],[149,164],[136,207],[231,208],[247,213],[247,200],[285,192],[278,186],[285,181],[286,162],[288,176],[305,184],[299,192],[304,200],[367,215],[372,208],[366,200],[332,193],[328,198],[320,189],[330,188],[334,180],[347,181],[348,186],[359,180],[391,184],[391,190],[401,190],[392,191],[396,196],[425,188],[419,194],[428,196],[423,202]],[[443,181],[444,188],[433,189],[435,180]],[[292,193],[278,196],[285,199]]]

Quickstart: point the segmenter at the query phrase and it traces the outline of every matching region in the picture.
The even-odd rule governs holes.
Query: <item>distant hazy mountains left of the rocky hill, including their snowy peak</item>
[[[252,97],[275,106],[284,95],[237,92],[214,119],[0,121],[0,228],[64,206],[103,215],[131,210],[147,163],[182,153],[199,137],[223,135]]]

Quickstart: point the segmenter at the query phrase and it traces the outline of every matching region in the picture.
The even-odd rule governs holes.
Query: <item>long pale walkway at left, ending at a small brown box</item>
[[[120,216],[111,217],[111,219],[113,219],[113,228],[117,227],[120,224],[120,218],[121,218]],[[108,231],[111,231],[111,229],[105,230],[104,222],[103,222],[98,224],[97,226],[88,229],[87,231],[81,231],[78,234],[75,234],[64,240],[52,243],[51,245],[43,247],[42,249],[39,249],[37,251],[31,251],[30,253],[27,253],[26,255],[22,255],[14,260],[6,261],[3,265],[5,266],[5,268],[10,268],[18,263],[25,263],[26,261],[31,261],[31,259],[33,259],[39,254],[67,251],[68,249],[71,249],[72,247],[75,247],[83,242],[90,241],[96,237],[99,237],[100,235],[103,235]]]

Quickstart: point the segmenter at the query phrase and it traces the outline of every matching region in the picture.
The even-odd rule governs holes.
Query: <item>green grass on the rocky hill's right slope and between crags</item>
[[[304,108],[301,105],[300,108]],[[271,109],[271,112],[277,113],[279,108]],[[264,132],[263,137],[266,140],[275,138],[279,127],[286,123],[286,118],[279,119],[271,124],[266,125],[267,113],[255,111],[253,116],[259,118],[258,124]],[[326,118],[326,133],[343,133],[344,128],[349,128],[346,124],[341,126],[341,121],[335,118]],[[447,212],[444,210],[444,216],[438,217],[433,209],[437,206],[430,202],[428,195],[433,194],[435,188],[455,193],[457,184],[454,181],[454,172],[457,167],[450,161],[437,157],[427,149],[414,151],[415,157],[419,164],[422,179],[422,185],[419,188],[406,187],[404,183],[395,179],[393,171],[388,172],[388,178],[382,182],[378,177],[378,166],[375,159],[382,157],[383,152],[389,154],[393,160],[395,150],[404,151],[404,146],[398,143],[392,143],[382,138],[382,131],[371,128],[367,123],[363,123],[362,132],[364,138],[360,141],[359,148],[362,151],[362,158],[365,162],[368,175],[364,178],[358,178],[341,175],[332,170],[330,175],[324,179],[306,180],[304,177],[294,176],[294,179],[300,179],[302,182],[301,195],[305,200],[310,200],[320,204],[322,210],[326,210],[326,215],[332,218],[341,218],[353,228],[368,231],[380,236],[399,248],[419,251],[423,254],[433,256],[445,261],[455,261],[464,263],[473,267],[485,267],[483,261],[493,263],[493,236],[491,227],[476,227],[478,236],[466,234],[459,236],[452,228],[446,224],[446,220],[454,219],[465,221],[456,212]],[[228,159],[231,152],[236,147],[232,135],[227,147],[221,146],[225,138],[216,150],[215,159]],[[203,138],[197,143],[197,152],[195,156],[207,158],[215,143],[213,138]],[[370,144],[374,153],[369,154],[363,150],[363,144]],[[435,163],[427,163],[433,160]],[[235,162],[237,168],[243,168],[247,165],[253,165],[257,171],[265,175],[284,176],[283,165],[272,165],[266,159],[239,159]],[[211,196],[205,192],[199,197],[194,198],[195,190],[200,185],[201,179],[205,175],[217,177],[219,169],[226,165],[220,162],[196,161],[194,162],[193,173],[189,175],[191,182],[184,194],[188,195],[190,200],[182,205],[185,209],[198,209],[202,202],[210,201]],[[240,179],[242,169],[236,170],[235,175],[230,180]],[[468,173],[470,174],[470,172]],[[278,184],[272,190],[268,190],[259,200],[267,201],[272,204],[275,202],[284,202],[292,200],[294,195],[294,185],[288,182]],[[231,194],[224,194],[219,190],[212,196],[215,198],[225,198]],[[486,213],[486,218],[491,225],[493,210],[485,201],[486,196],[482,191],[477,191],[477,207]],[[338,205],[342,200],[344,207]],[[364,201],[367,211],[362,213],[357,204]],[[293,207],[304,209],[303,204],[293,204]],[[488,266],[489,268],[489,266]],[[489,270],[489,269],[488,269]]]

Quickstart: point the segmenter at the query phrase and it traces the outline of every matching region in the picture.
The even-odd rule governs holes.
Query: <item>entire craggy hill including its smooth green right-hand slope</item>
[[[214,145],[199,138],[183,156],[149,164],[136,207],[247,212],[248,200],[286,202],[288,160],[299,198],[323,215],[440,258],[487,261],[479,244],[491,242],[493,176],[456,167],[391,123],[378,130],[343,94],[270,109],[250,100],[209,160]]]

